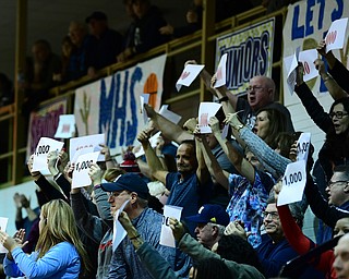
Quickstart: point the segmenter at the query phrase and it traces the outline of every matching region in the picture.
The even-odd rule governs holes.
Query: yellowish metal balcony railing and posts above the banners
[[[206,3],[208,4],[209,1]],[[194,34],[188,35],[185,37],[173,39],[165,45],[156,47],[149,50],[146,53],[139,54],[125,63],[116,63],[110,66],[107,66],[100,70],[97,73],[96,78],[100,78],[107,75],[110,75],[119,70],[127,69],[131,65],[134,65],[137,62],[148,60],[158,54],[166,53],[170,59],[177,59],[182,56],[185,59],[191,59],[193,53],[198,54],[197,59],[205,63],[208,71],[213,70],[214,65],[214,48],[215,40],[217,37],[225,35],[227,33],[231,33],[238,31],[242,27],[249,26],[253,23],[263,21],[267,17],[272,16],[281,16],[281,24],[284,25],[285,16],[287,9],[275,12],[270,15],[265,15],[265,9],[263,7],[254,8],[248,12],[242,14],[238,14],[230,19],[227,19],[222,22],[209,25],[209,16],[214,16],[209,13],[209,9],[204,9],[204,25],[202,31],[197,31]],[[205,20],[206,19],[206,20]],[[196,52],[195,52],[195,51]],[[281,53],[281,51],[280,51]],[[180,59],[179,59],[180,60]],[[280,68],[280,57],[274,58],[273,68]],[[183,64],[181,64],[182,66]],[[207,66],[210,65],[210,66]],[[209,69],[212,68],[212,69]],[[95,78],[95,80],[96,80]],[[93,82],[88,76],[84,76],[77,81],[72,81],[63,85],[59,85],[50,90],[50,96],[52,98],[48,101],[51,101],[55,98],[61,96],[70,96],[73,98],[74,89]],[[280,83],[278,84],[280,86]],[[176,109],[173,109],[177,113],[181,113],[183,118],[189,117],[188,111],[192,110],[193,101],[198,106],[200,101],[207,100],[209,95],[205,95],[204,84],[201,83],[198,88],[191,88],[188,92],[184,92],[181,95],[174,94],[163,94],[163,102],[171,104]],[[191,100],[191,101],[188,101]],[[193,100],[193,101],[192,101]],[[28,178],[23,169],[25,168],[25,153],[26,153],[26,141],[22,141],[23,144],[19,146],[17,141],[20,138],[27,138],[27,135],[23,133],[23,130],[13,125],[15,121],[19,121],[20,113],[17,111],[19,104],[10,105],[7,107],[0,108],[0,128],[2,132],[2,138],[5,146],[2,146],[0,149],[0,168],[1,168],[1,177],[0,177],[0,189],[22,183],[26,181]],[[196,110],[197,111],[197,110]],[[68,111],[68,113],[72,113],[72,111]],[[23,120],[27,121],[27,120]],[[16,141],[16,142],[15,142]],[[16,144],[14,144],[16,143]],[[17,146],[17,147],[16,147]],[[23,169],[19,169],[19,163],[21,162]]]

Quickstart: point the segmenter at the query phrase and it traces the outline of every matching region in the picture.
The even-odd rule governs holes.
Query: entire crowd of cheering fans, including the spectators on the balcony
[[[130,34],[137,33],[148,21],[155,25],[161,21],[157,9],[147,3],[132,1],[134,14],[130,16],[134,22]],[[149,19],[142,21],[147,16],[144,11]],[[121,35],[108,28],[101,12],[94,12],[86,23],[94,38],[86,37],[84,25],[72,22],[70,39],[63,39],[62,49],[64,56],[75,56],[74,65],[91,61],[85,70],[93,73],[101,66],[97,63],[108,60],[108,54],[100,53],[94,60],[82,56],[82,47],[96,50],[112,45]],[[166,28],[161,33],[172,31],[170,25],[163,26]],[[142,34],[137,37],[142,38]],[[128,59],[142,51],[139,45],[129,44],[120,46],[112,59]],[[274,101],[274,81],[254,76],[244,99],[226,86],[214,88],[216,76],[204,70],[201,78],[222,105],[221,111],[209,119],[210,134],[201,133],[196,119],[179,126],[145,105],[151,121],[137,135],[145,156],[136,158],[136,147],[130,147],[123,161],[118,162],[108,146],[101,144],[105,160],[89,167],[92,185],[87,187],[71,186],[75,166],[63,149],[47,157],[53,182],[33,171],[31,157],[27,165],[37,185],[39,208],[31,208],[24,194],[14,195],[17,232],[11,236],[0,229],[0,243],[9,251],[3,254],[0,276],[349,278],[349,70],[325,50],[326,45],[321,41],[317,51],[327,62],[328,73],[322,60],[315,64],[334,98],[329,112],[303,81],[302,64],[297,69],[294,92],[326,134],[315,165],[314,149],[310,147],[301,202],[277,206],[281,178],[287,166],[297,160],[301,133],[294,132],[288,109]],[[40,66],[55,74],[56,81],[69,75],[68,60],[64,74],[55,72],[57,57],[47,41],[38,40],[33,53],[37,62],[50,61],[28,63],[33,85]],[[224,124],[230,129],[225,136]],[[149,138],[158,131],[161,137],[152,147]],[[166,221],[176,247],[159,244],[165,205],[182,207],[180,220]],[[302,233],[308,207],[322,221],[315,228],[316,243]],[[27,217],[22,217],[22,210]],[[127,238],[115,248],[117,218]]]

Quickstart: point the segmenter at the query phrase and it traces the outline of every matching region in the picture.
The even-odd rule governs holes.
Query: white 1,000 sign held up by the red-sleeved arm
[[[287,165],[282,190],[279,193],[277,205],[288,205],[302,201],[306,182],[305,161],[296,161]]]

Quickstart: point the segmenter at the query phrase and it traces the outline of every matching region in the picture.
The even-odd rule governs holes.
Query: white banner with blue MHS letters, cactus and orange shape
[[[141,94],[151,95],[148,104],[155,110],[160,107],[165,63],[166,54],[77,88],[79,136],[105,133],[110,148],[133,145],[144,128]]]

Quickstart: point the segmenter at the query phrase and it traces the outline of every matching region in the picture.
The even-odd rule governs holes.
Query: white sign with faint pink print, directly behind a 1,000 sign
[[[69,158],[74,158],[75,153],[79,149],[93,148],[93,151],[100,151],[99,144],[105,143],[105,134],[86,135],[80,137],[70,138]],[[104,161],[105,156],[99,155],[98,161]]]

